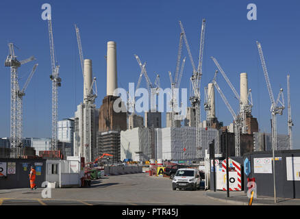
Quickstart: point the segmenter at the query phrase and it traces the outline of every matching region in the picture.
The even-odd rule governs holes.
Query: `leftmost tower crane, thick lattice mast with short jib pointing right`
[[[10,145],[12,148],[21,146],[22,144],[22,107],[21,101],[18,99],[18,92],[20,90],[18,84],[18,68],[35,60],[34,56],[26,60],[18,61],[14,54],[14,44],[9,43],[9,53],[5,60],[5,66],[10,67]]]

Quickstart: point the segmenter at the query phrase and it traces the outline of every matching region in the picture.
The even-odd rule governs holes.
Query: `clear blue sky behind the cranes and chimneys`
[[[51,136],[51,62],[47,21],[41,18],[42,3],[50,3],[53,18],[55,52],[60,64],[62,87],[59,88],[59,119],[72,117],[82,102],[83,79],[79,64],[74,23],[80,29],[84,58],[92,59],[97,77],[97,107],[106,92],[107,42],[117,43],[118,86],[127,88],[136,83],[140,74],[134,54],[147,61],[147,72],[152,81],[161,77],[162,88],[170,87],[168,70],[174,72],[179,42],[179,21],[182,21],[195,63],[199,55],[199,35],[202,18],[206,18],[201,92],[210,82],[216,66],[210,59],[216,57],[236,90],[240,89],[239,75],[248,73],[249,88],[253,94],[253,116],[258,118],[261,131],[271,131],[269,112],[271,102],[264,80],[255,41],[262,44],[266,65],[275,98],[279,88],[286,96],[286,75],[290,74],[294,148],[300,149],[300,103],[297,87],[300,69],[300,13],[299,1],[11,1],[0,3],[0,57],[3,63],[8,55],[8,42],[19,50],[19,60],[35,55],[39,66],[24,97],[23,136]],[[258,20],[247,20],[247,5],[255,3]],[[187,56],[186,48],[183,55]],[[34,63],[19,68],[21,87]],[[10,69],[0,65],[0,136],[10,136]],[[190,60],[182,77],[182,88],[188,88],[192,73]],[[146,86],[145,78],[142,86]],[[234,110],[238,103],[221,75],[218,83]],[[202,101],[203,104],[203,101]],[[205,111],[202,107],[202,119]],[[221,97],[216,93],[216,116],[225,125],[232,122]],[[287,110],[277,117],[279,133],[287,133]]]

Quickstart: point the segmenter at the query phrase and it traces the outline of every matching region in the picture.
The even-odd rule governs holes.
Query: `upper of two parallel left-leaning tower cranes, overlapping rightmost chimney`
[[[218,64],[218,61],[216,61],[216,58],[214,58],[214,57],[211,57],[211,58],[214,61],[214,64],[216,64],[216,67],[218,68],[218,70],[223,75],[225,81],[228,83],[229,87],[232,89],[232,92],[234,92],[236,99],[238,100],[238,103],[240,105],[240,117],[242,119],[242,127],[241,127],[242,133],[247,133],[246,118],[247,118],[247,114],[251,114],[251,108],[253,107],[251,89],[249,89],[249,92],[248,92],[247,105],[242,104],[242,101],[240,100],[240,95],[238,94],[238,92],[236,91],[234,86],[232,85],[232,82],[230,82],[230,80],[227,77],[227,75],[225,74],[223,68],[221,68],[220,64]]]

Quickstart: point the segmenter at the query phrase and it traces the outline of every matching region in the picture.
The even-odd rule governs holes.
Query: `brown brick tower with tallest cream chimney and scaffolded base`
[[[97,132],[97,156],[101,153],[113,155],[113,162],[121,160],[120,132],[127,129],[127,113],[125,103],[116,95],[117,68],[116,68],[116,42],[108,42],[107,51],[107,87],[106,96],[103,98],[99,109],[99,129]],[[116,107],[121,110],[118,112]],[[138,124],[136,124],[138,123]],[[132,127],[140,125],[138,116],[132,117]],[[95,158],[97,158],[95,156]],[[94,158],[94,159],[95,159]]]

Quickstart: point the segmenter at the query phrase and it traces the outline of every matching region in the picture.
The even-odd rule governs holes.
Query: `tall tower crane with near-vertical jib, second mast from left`
[[[48,17],[48,31],[49,31],[49,44],[51,56],[51,75],[52,81],[52,136],[51,136],[51,150],[58,150],[58,87],[61,86],[62,79],[59,77],[60,66],[55,60],[54,42],[51,15]]]

